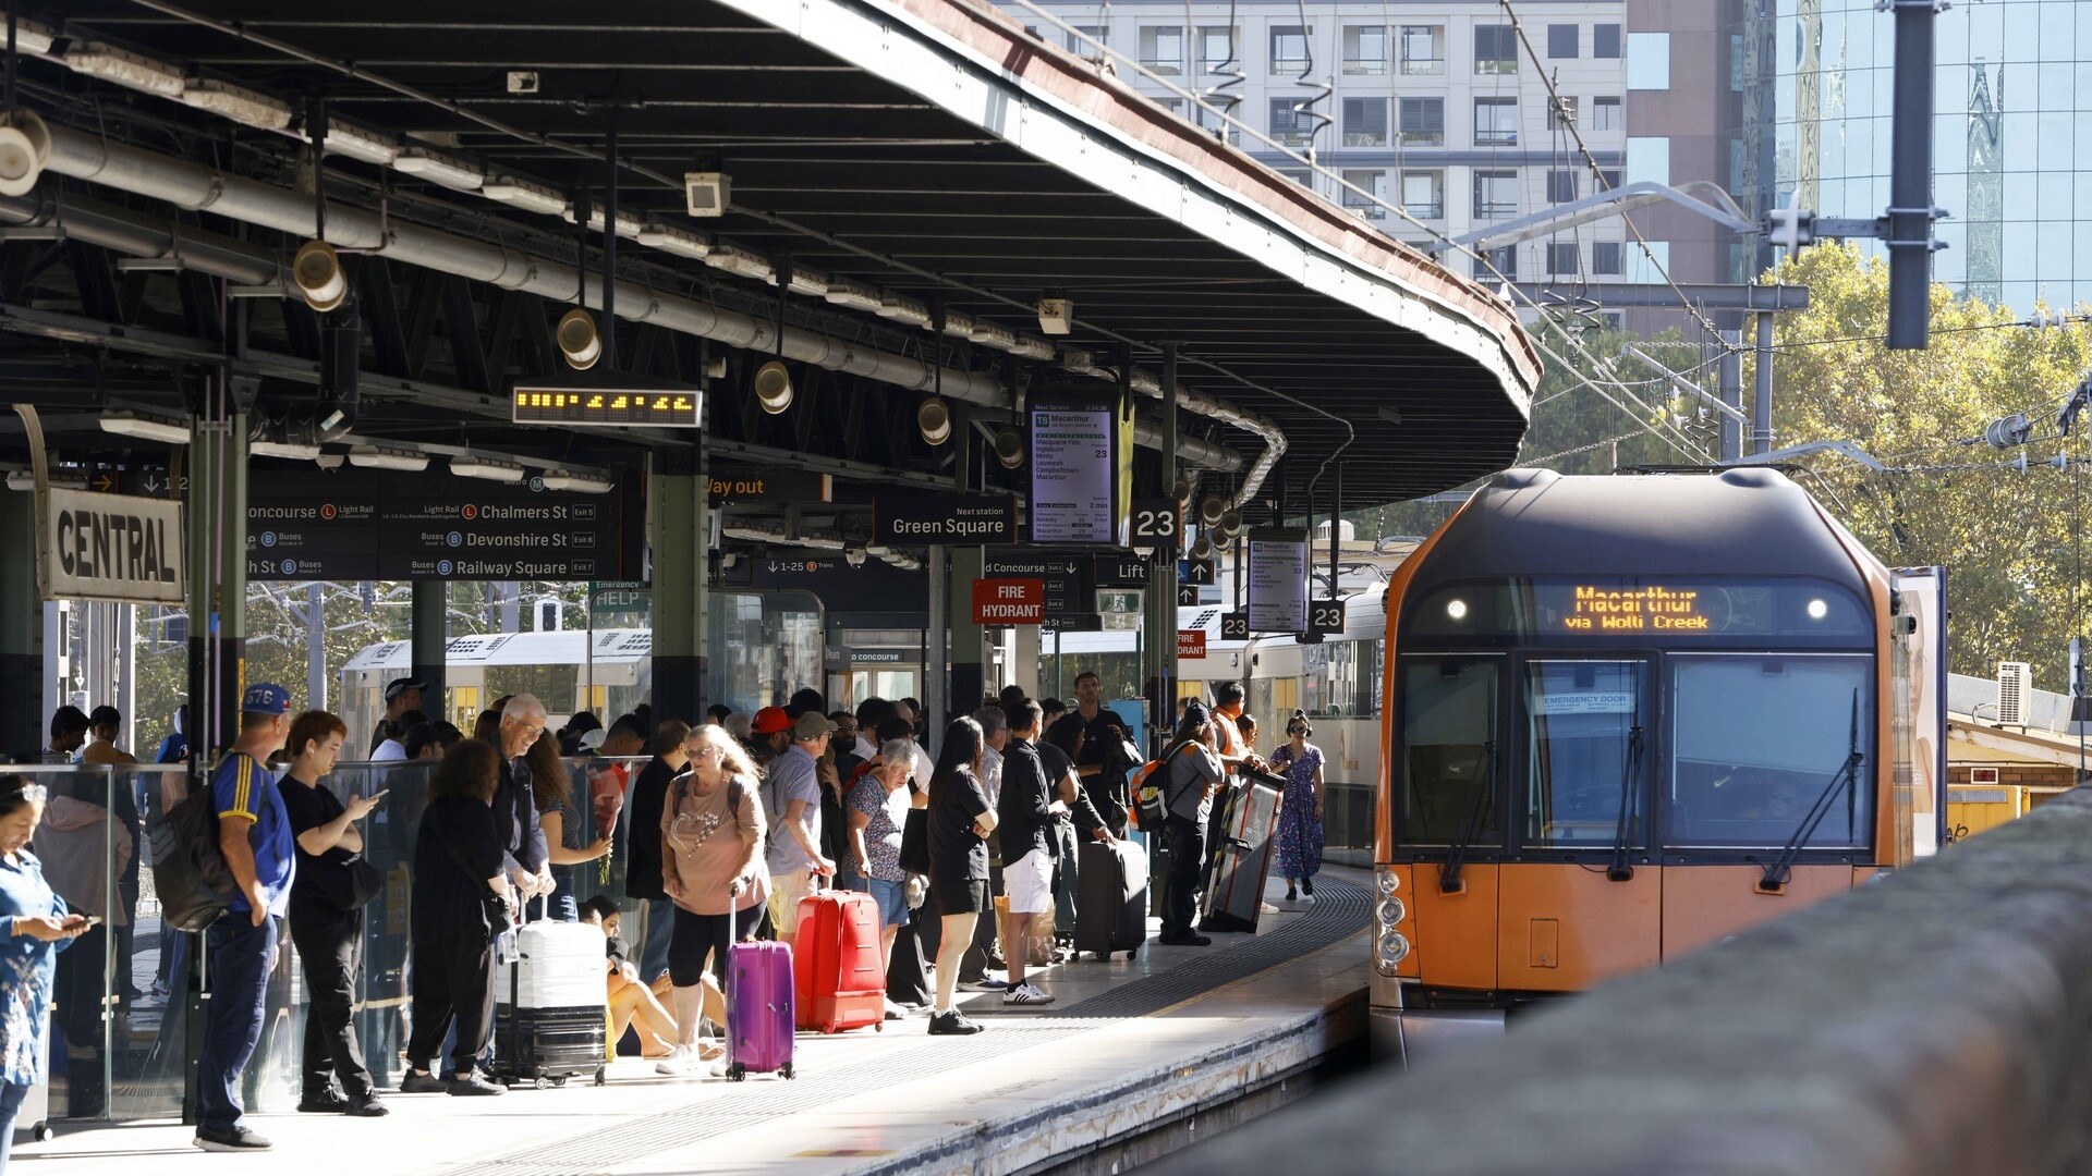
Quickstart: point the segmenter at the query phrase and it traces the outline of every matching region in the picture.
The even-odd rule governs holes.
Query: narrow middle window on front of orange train
[[[1527,661],[1527,845],[1646,843],[1646,661]]]

